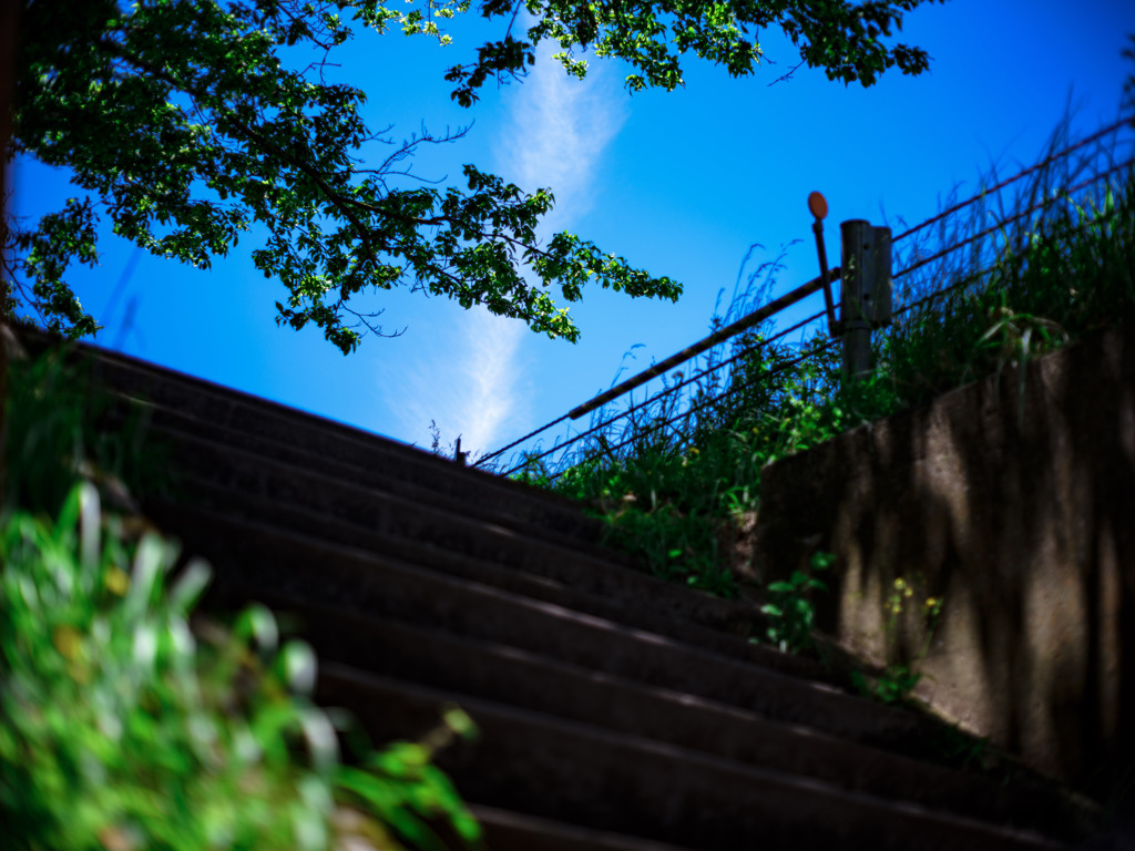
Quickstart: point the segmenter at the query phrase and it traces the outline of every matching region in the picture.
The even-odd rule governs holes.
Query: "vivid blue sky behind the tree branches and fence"
[[[463,110],[444,71],[503,31],[471,20],[453,32],[447,48],[360,33],[334,74],[369,93],[368,120],[393,125],[395,140],[473,121],[464,138],[419,157],[415,171],[460,179],[473,162],[527,189],[552,187],[547,236],[571,230],[682,281],[676,304],[585,289],[572,345],[478,309],[384,293],[363,304],[405,332],[367,337],[344,357],[316,329],[277,328],[283,286],[252,268],[253,241],[197,271],[108,233],[99,267],[72,279],[104,326],[95,342],[419,446],[434,420],[446,444],[462,435],[463,448],[489,450],[605,389],[632,346],[639,369],[703,337],[753,243],[766,248],[759,260],[800,239],[777,292],[815,277],[810,191],[827,197],[827,251],[838,256],[841,220],[883,224],[885,212],[914,224],[955,186],[976,191],[991,163],[1002,175],[1031,165],[1069,102],[1077,133],[1115,120],[1135,71],[1120,56],[1135,33],[1129,0],[950,0],[905,20],[902,41],[927,50],[930,73],[888,73],[866,90],[807,68],[770,85],[798,61],[770,31],[760,41],[775,65],[746,79],[690,58],[684,89],[630,95],[616,62],[591,61],[579,82],[545,56],[522,84],[487,90]],[[20,214],[75,194],[65,172],[36,163],[18,163],[15,177]]]

